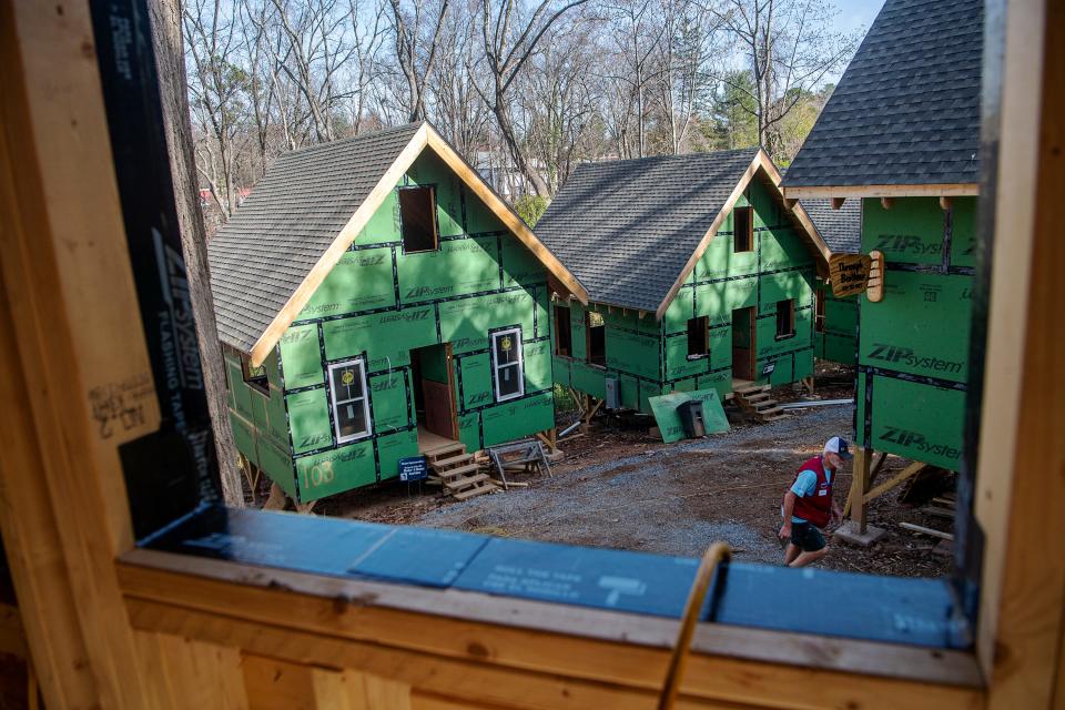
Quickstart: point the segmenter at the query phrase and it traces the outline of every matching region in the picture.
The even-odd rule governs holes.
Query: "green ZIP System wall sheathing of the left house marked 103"
[[[398,190],[433,185],[440,243],[405,254]],[[469,450],[555,426],[547,271],[434,154],[423,153],[265,362],[267,398],[226,355],[237,449],[307,503],[394,478],[416,456],[410,351],[450,343]],[[520,327],[525,390],[496,402],[489,334]],[[371,435],[336,446],[327,366],[365,357]],[[446,377],[446,376],[445,376]]]

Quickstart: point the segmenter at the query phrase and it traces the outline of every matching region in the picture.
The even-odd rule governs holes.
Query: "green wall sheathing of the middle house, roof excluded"
[[[605,366],[587,362],[585,308],[568,304],[571,355],[555,355],[555,382],[604,398],[606,381],[617,378],[621,406],[647,414],[648,397],[672,392],[713,388],[723,399],[732,392],[732,312],[748,306],[757,308],[754,379],[782,385],[811,376],[813,256],[760,180],[751,181],[736,206],[753,207],[753,248],[734,251],[732,214],[726,215],[661,323],[650,314],[640,318],[616,306],[589,306],[604,320]],[[794,334],[778,339],[777,306],[788,300],[794,301]],[[708,318],[710,352],[689,357],[688,321],[701,316]],[[770,364],[771,374],[763,375]]]

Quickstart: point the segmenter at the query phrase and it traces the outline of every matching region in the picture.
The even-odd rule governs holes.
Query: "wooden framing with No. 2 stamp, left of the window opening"
[[[160,415],[89,7],[0,13],[0,404],[23,413],[0,427],[0,525],[48,706],[151,707],[113,560],[133,544],[118,446]],[[138,416],[102,426],[126,386]]]

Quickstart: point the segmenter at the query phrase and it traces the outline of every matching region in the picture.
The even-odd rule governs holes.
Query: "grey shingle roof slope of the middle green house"
[[[655,312],[758,149],[585,163],[536,234],[591,301]]]

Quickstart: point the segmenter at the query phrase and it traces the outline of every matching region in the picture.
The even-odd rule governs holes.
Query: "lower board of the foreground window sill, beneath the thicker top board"
[[[646,710],[658,694],[657,683],[602,682],[576,678],[572,673],[504,668],[490,662],[495,650],[490,647],[481,649],[479,657],[475,653],[467,657],[469,660],[460,660],[151,601],[131,600],[129,606],[134,626],[151,626],[165,633],[239,646],[250,653],[293,663],[354,669],[407,683],[422,692],[475,703],[523,710]],[[555,643],[550,648],[550,653],[569,655],[564,645]],[[662,651],[655,670],[665,671],[665,659]],[[610,660],[608,656],[600,662],[609,665]],[[781,701],[780,689],[799,684],[804,687],[804,703],[811,707],[886,707],[888,699],[894,697],[899,702],[905,699],[907,708],[942,710],[977,707],[981,696],[976,688],[839,677],[818,668],[742,663],[726,658],[709,665],[703,660],[699,656],[690,660],[681,690],[687,701],[682,707],[719,707],[720,701],[787,707],[789,703]]]

